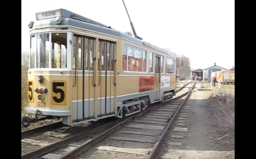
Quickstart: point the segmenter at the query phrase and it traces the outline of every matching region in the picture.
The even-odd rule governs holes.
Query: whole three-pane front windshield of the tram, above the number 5
[[[67,33],[31,36],[30,68],[67,68]]]

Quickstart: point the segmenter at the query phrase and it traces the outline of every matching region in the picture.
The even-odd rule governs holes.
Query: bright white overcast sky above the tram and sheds
[[[189,57],[191,67],[235,62],[234,0],[124,0],[136,33],[148,43]],[[35,13],[67,9],[120,31],[132,31],[122,0],[26,0],[21,2],[21,51],[29,52]]]

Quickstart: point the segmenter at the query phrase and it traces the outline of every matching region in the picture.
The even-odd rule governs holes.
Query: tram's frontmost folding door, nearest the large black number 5
[[[73,104],[73,119],[76,121],[94,116],[94,39],[84,36],[73,37],[73,51],[76,52],[75,74],[76,104]]]

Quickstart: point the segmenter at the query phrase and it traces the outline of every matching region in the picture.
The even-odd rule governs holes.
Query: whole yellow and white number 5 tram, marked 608
[[[28,113],[72,125],[129,116],[175,94],[175,53],[65,9],[36,13],[29,28]]]

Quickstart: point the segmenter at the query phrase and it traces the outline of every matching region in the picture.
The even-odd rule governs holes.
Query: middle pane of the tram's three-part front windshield
[[[37,68],[49,68],[49,33],[37,34]]]

